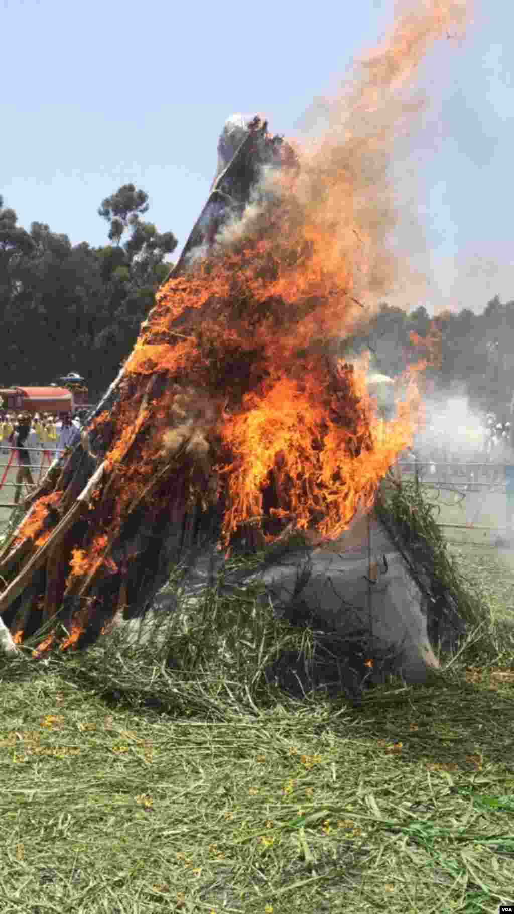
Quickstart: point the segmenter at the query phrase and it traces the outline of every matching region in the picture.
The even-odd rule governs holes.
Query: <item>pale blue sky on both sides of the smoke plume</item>
[[[174,4],[0,0],[0,193],[19,223],[73,244],[107,241],[103,197],[133,183],[146,218],[182,247],[215,172],[228,114],[263,112],[299,135],[351,58],[392,22],[393,0]],[[514,299],[512,0],[476,0],[460,46],[430,54],[432,104],[413,139],[429,291],[412,306],[481,310]]]

